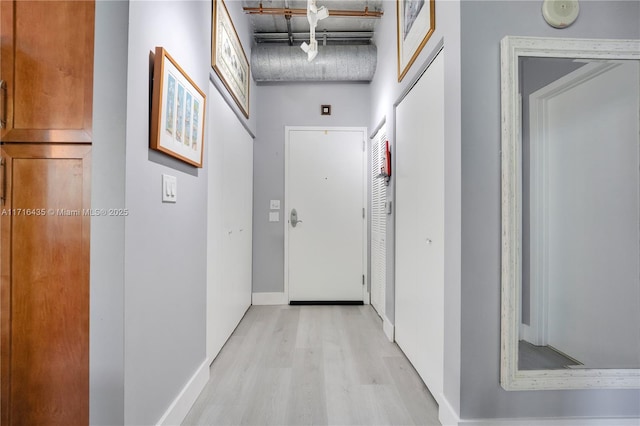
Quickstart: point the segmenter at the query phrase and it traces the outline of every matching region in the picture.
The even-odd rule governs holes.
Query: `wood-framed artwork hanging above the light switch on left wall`
[[[156,47],[151,148],[202,167],[205,103],[204,92],[163,47]]]

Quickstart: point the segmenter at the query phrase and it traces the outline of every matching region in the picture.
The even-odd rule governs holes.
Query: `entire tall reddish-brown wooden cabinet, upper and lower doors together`
[[[94,3],[0,1],[0,420],[89,423]]]

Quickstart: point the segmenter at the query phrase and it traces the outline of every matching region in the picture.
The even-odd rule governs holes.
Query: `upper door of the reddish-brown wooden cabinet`
[[[0,1],[2,142],[91,142],[93,1]]]

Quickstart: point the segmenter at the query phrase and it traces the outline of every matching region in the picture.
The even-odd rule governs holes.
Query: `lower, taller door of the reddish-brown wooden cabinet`
[[[90,145],[2,146],[2,425],[89,423]]]

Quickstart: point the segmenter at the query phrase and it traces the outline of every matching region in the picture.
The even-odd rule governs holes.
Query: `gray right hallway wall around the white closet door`
[[[396,2],[383,1],[384,16],[376,27],[378,66],[371,83],[369,128],[386,120],[395,162],[395,106],[444,44],[445,51],[445,289],[444,395],[453,411],[460,403],[460,3],[436,1],[436,29],[415,63],[398,82]],[[395,170],[395,167],[392,167]],[[387,187],[394,199],[395,178]],[[395,322],[395,205],[387,222],[386,316]]]

